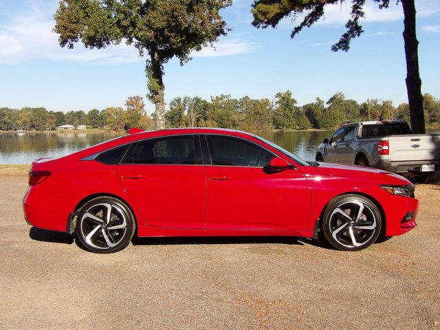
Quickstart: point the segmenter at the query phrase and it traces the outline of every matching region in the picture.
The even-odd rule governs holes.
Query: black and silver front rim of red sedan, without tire
[[[377,228],[377,219],[369,206],[362,201],[341,203],[331,212],[329,230],[333,239],[347,248],[368,244]]]

